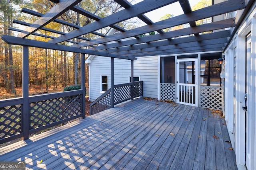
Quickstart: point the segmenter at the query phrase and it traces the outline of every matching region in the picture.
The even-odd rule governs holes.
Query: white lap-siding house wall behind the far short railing
[[[95,56],[90,63],[90,100],[96,100],[100,93],[100,76],[108,76],[108,88],[110,88],[110,58]],[[131,61],[114,59],[114,84],[123,84],[129,81],[131,76]],[[134,61],[134,76],[139,76],[143,81],[143,96],[157,98],[158,92],[158,57],[138,57]]]

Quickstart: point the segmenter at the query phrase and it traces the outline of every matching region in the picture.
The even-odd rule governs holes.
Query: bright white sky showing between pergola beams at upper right
[[[201,0],[189,0],[190,2],[190,6],[191,8],[197,4],[198,2],[200,2]],[[172,9],[172,10],[170,10]],[[180,4],[179,2],[175,2],[173,4],[170,4],[168,6],[165,6],[165,7],[162,7],[162,8],[159,8],[157,10],[154,10],[152,12],[148,12],[146,13],[145,15],[150,19],[152,20],[153,22],[157,22],[159,21],[159,19],[161,17],[163,17],[164,15],[166,14],[172,14],[174,16],[178,16],[180,14],[184,14],[183,11],[182,11],[182,8],[180,7]]]

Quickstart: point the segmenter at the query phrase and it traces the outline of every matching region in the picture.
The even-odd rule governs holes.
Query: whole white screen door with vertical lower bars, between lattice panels
[[[198,60],[177,60],[177,103],[198,106]]]

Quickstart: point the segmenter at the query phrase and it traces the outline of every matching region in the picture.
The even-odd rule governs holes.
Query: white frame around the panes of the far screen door
[[[195,62],[195,84],[187,84],[187,83],[180,83],[180,62],[188,62],[188,61],[192,61]],[[185,104],[185,105],[189,105],[189,106],[196,106],[198,107],[198,58],[189,58],[189,59],[177,59],[177,63],[176,63],[176,78],[177,78],[177,82],[176,82],[176,87],[177,87],[177,103],[178,104]],[[195,104],[191,104],[191,103],[187,103],[187,102],[180,102],[180,85],[182,86],[190,86],[190,87],[195,87]],[[193,98],[193,97],[192,97]]]

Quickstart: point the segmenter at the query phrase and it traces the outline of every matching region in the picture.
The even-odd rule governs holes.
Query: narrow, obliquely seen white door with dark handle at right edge
[[[246,36],[246,89],[245,89],[245,96],[244,96],[244,100],[245,100],[245,107],[244,107],[244,111],[245,111],[245,115],[246,115],[246,123],[245,123],[245,127],[246,127],[246,131],[245,131],[245,135],[246,135],[246,167],[250,169],[250,163],[252,162],[251,158],[250,158],[250,152],[251,152],[251,148],[250,145],[251,144],[251,137],[252,137],[252,131],[251,131],[251,121],[252,121],[252,113],[250,113],[250,111],[248,111],[248,108],[250,107],[248,100],[250,100],[250,77],[251,77],[251,45],[252,45],[252,39],[251,39],[251,33],[249,33]]]

